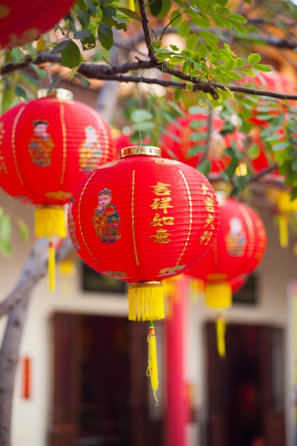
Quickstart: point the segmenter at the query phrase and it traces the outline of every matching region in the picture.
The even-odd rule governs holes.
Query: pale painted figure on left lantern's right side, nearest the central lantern
[[[98,140],[97,130],[92,125],[88,125],[85,128],[85,140],[80,147],[79,154],[81,170],[91,172],[98,167],[100,158],[102,157],[102,150]]]

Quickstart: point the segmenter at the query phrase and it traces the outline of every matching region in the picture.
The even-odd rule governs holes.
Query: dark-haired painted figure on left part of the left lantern
[[[31,136],[28,150],[32,162],[39,167],[47,167],[51,165],[51,152],[54,143],[47,130],[48,121],[33,121],[33,135]]]

